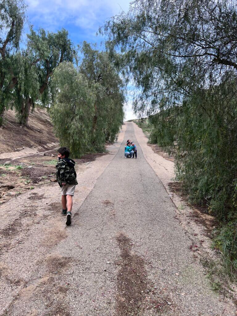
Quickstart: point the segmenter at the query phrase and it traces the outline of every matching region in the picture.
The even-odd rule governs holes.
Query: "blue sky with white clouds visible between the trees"
[[[129,0],[25,0],[29,23],[34,29],[43,27],[57,31],[64,27],[75,44],[83,40],[100,45],[103,38],[96,36],[98,28],[113,15],[129,10]],[[27,32],[27,28],[26,28]],[[125,107],[126,120],[135,118],[131,98]]]

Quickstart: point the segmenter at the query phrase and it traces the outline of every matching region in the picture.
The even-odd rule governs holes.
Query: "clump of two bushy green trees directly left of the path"
[[[123,82],[108,54],[84,42],[82,62],[76,69],[62,63],[53,73],[55,102],[51,117],[62,146],[73,157],[104,151],[114,141],[124,119]]]

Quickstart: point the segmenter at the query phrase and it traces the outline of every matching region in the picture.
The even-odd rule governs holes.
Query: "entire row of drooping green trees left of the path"
[[[125,85],[118,69],[107,52],[86,42],[75,46],[65,29],[30,26],[23,34],[26,22],[24,1],[0,2],[0,127],[4,112],[14,109],[21,126],[29,128],[37,105],[49,110],[60,145],[75,158],[103,152],[124,119]]]

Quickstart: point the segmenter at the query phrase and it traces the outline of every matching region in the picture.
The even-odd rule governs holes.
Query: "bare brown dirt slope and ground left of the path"
[[[59,146],[49,114],[43,109],[30,113],[29,128],[18,123],[14,111],[7,111],[4,119],[0,129],[0,204],[42,184],[50,185]],[[98,155],[85,155],[76,162],[93,161]]]

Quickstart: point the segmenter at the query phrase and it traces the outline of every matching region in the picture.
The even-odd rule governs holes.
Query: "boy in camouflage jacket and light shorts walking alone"
[[[58,149],[58,163],[56,164],[56,178],[62,192],[62,214],[67,216],[66,225],[71,225],[72,197],[74,196],[76,181],[75,161],[68,158],[69,149],[60,147]]]

